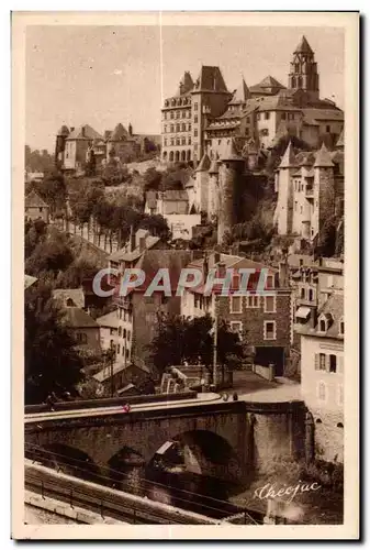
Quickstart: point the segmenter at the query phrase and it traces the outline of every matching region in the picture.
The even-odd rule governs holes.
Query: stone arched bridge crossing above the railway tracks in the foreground
[[[170,454],[177,441],[188,472],[246,483],[257,471],[270,471],[277,461],[299,459],[305,452],[302,402],[218,402],[171,408],[157,404],[126,415],[112,409],[80,413],[26,417],[26,457],[35,458],[43,450],[54,464],[69,457],[81,472],[135,472],[144,479],[154,460]]]

